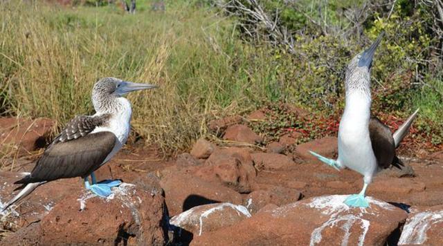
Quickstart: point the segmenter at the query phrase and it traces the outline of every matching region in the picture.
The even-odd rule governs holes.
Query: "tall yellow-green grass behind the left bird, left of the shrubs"
[[[136,15],[38,1],[2,1],[0,10],[2,115],[50,117],[63,126],[93,113],[91,88],[100,77],[158,84],[129,95],[132,126],[172,153],[206,133],[213,115],[275,94],[267,54],[239,41],[232,21],[186,1]]]

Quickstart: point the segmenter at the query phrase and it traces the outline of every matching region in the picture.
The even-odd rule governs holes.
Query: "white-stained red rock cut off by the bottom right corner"
[[[399,245],[443,245],[443,206],[410,214]]]

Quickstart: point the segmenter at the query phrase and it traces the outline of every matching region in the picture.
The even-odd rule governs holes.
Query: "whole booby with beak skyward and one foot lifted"
[[[332,160],[309,151],[318,160],[337,170],[348,167],[363,175],[363,189],[360,193],[349,196],[345,204],[350,207],[368,207],[365,191],[372,177],[381,169],[392,164],[402,165],[395,155],[395,149],[408,133],[410,125],[417,116],[418,109],[392,135],[377,117],[370,117],[371,92],[370,68],[375,50],[379,46],[384,32],[377,40],[347,66],[345,75],[345,111],[338,126],[338,158]]]

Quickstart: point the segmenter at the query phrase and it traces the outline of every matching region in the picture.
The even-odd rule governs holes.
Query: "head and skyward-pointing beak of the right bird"
[[[374,58],[375,50],[379,46],[384,32],[381,32],[374,43],[362,53],[356,55],[347,65],[345,87],[346,91],[352,88],[367,88],[370,87],[370,68],[372,67],[372,59]]]

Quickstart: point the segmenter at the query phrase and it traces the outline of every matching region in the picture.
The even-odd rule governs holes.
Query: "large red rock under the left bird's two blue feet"
[[[41,245],[166,243],[163,197],[123,183],[108,198],[74,193],[55,205],[40,223]]]

